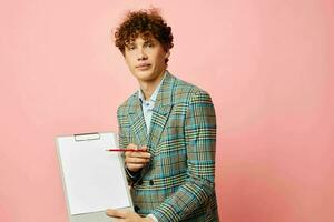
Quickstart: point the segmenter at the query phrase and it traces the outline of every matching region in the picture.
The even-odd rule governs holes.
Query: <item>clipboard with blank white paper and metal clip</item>
[[[124,161],[115,133],[81,133],[56,138],[70,222],[110,222],[105,210],[134,211]]]

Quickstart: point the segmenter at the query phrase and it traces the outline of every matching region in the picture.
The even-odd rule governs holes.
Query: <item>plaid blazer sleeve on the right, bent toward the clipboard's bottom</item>
[[[153,211],[159,222],[180,221],[214,195],[216,117],[210,97],[194,93],[185,119],[187,181]]]

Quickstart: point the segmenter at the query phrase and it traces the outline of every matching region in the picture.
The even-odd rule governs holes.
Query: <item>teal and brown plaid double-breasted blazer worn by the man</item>
[[[137,213],[159,222],[218,221],[216,117],[210,97],[167,72],[147,134],[138,92],[117,110],[119,145],[147,145],[151,161],[128,174]]]

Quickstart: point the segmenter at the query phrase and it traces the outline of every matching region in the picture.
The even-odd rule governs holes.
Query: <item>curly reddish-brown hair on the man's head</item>
[[[139,36],[144,39],[154,37],[163,44],[165,51],[174,46],[171,28],[167,26],[156,8],[129,11],[120,26],[116,28],[115,44],[125,54],[127,44]]]

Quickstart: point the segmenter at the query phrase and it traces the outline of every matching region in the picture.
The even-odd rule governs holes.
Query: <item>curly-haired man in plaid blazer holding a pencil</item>
[[[125,152],[136,212],[107,214],[130,222],[218,221],[210,97],[167,71],[173,34],[157,10],[129,12],[115,37],[140,87],[117,112],[120,147],[137,150]]]

